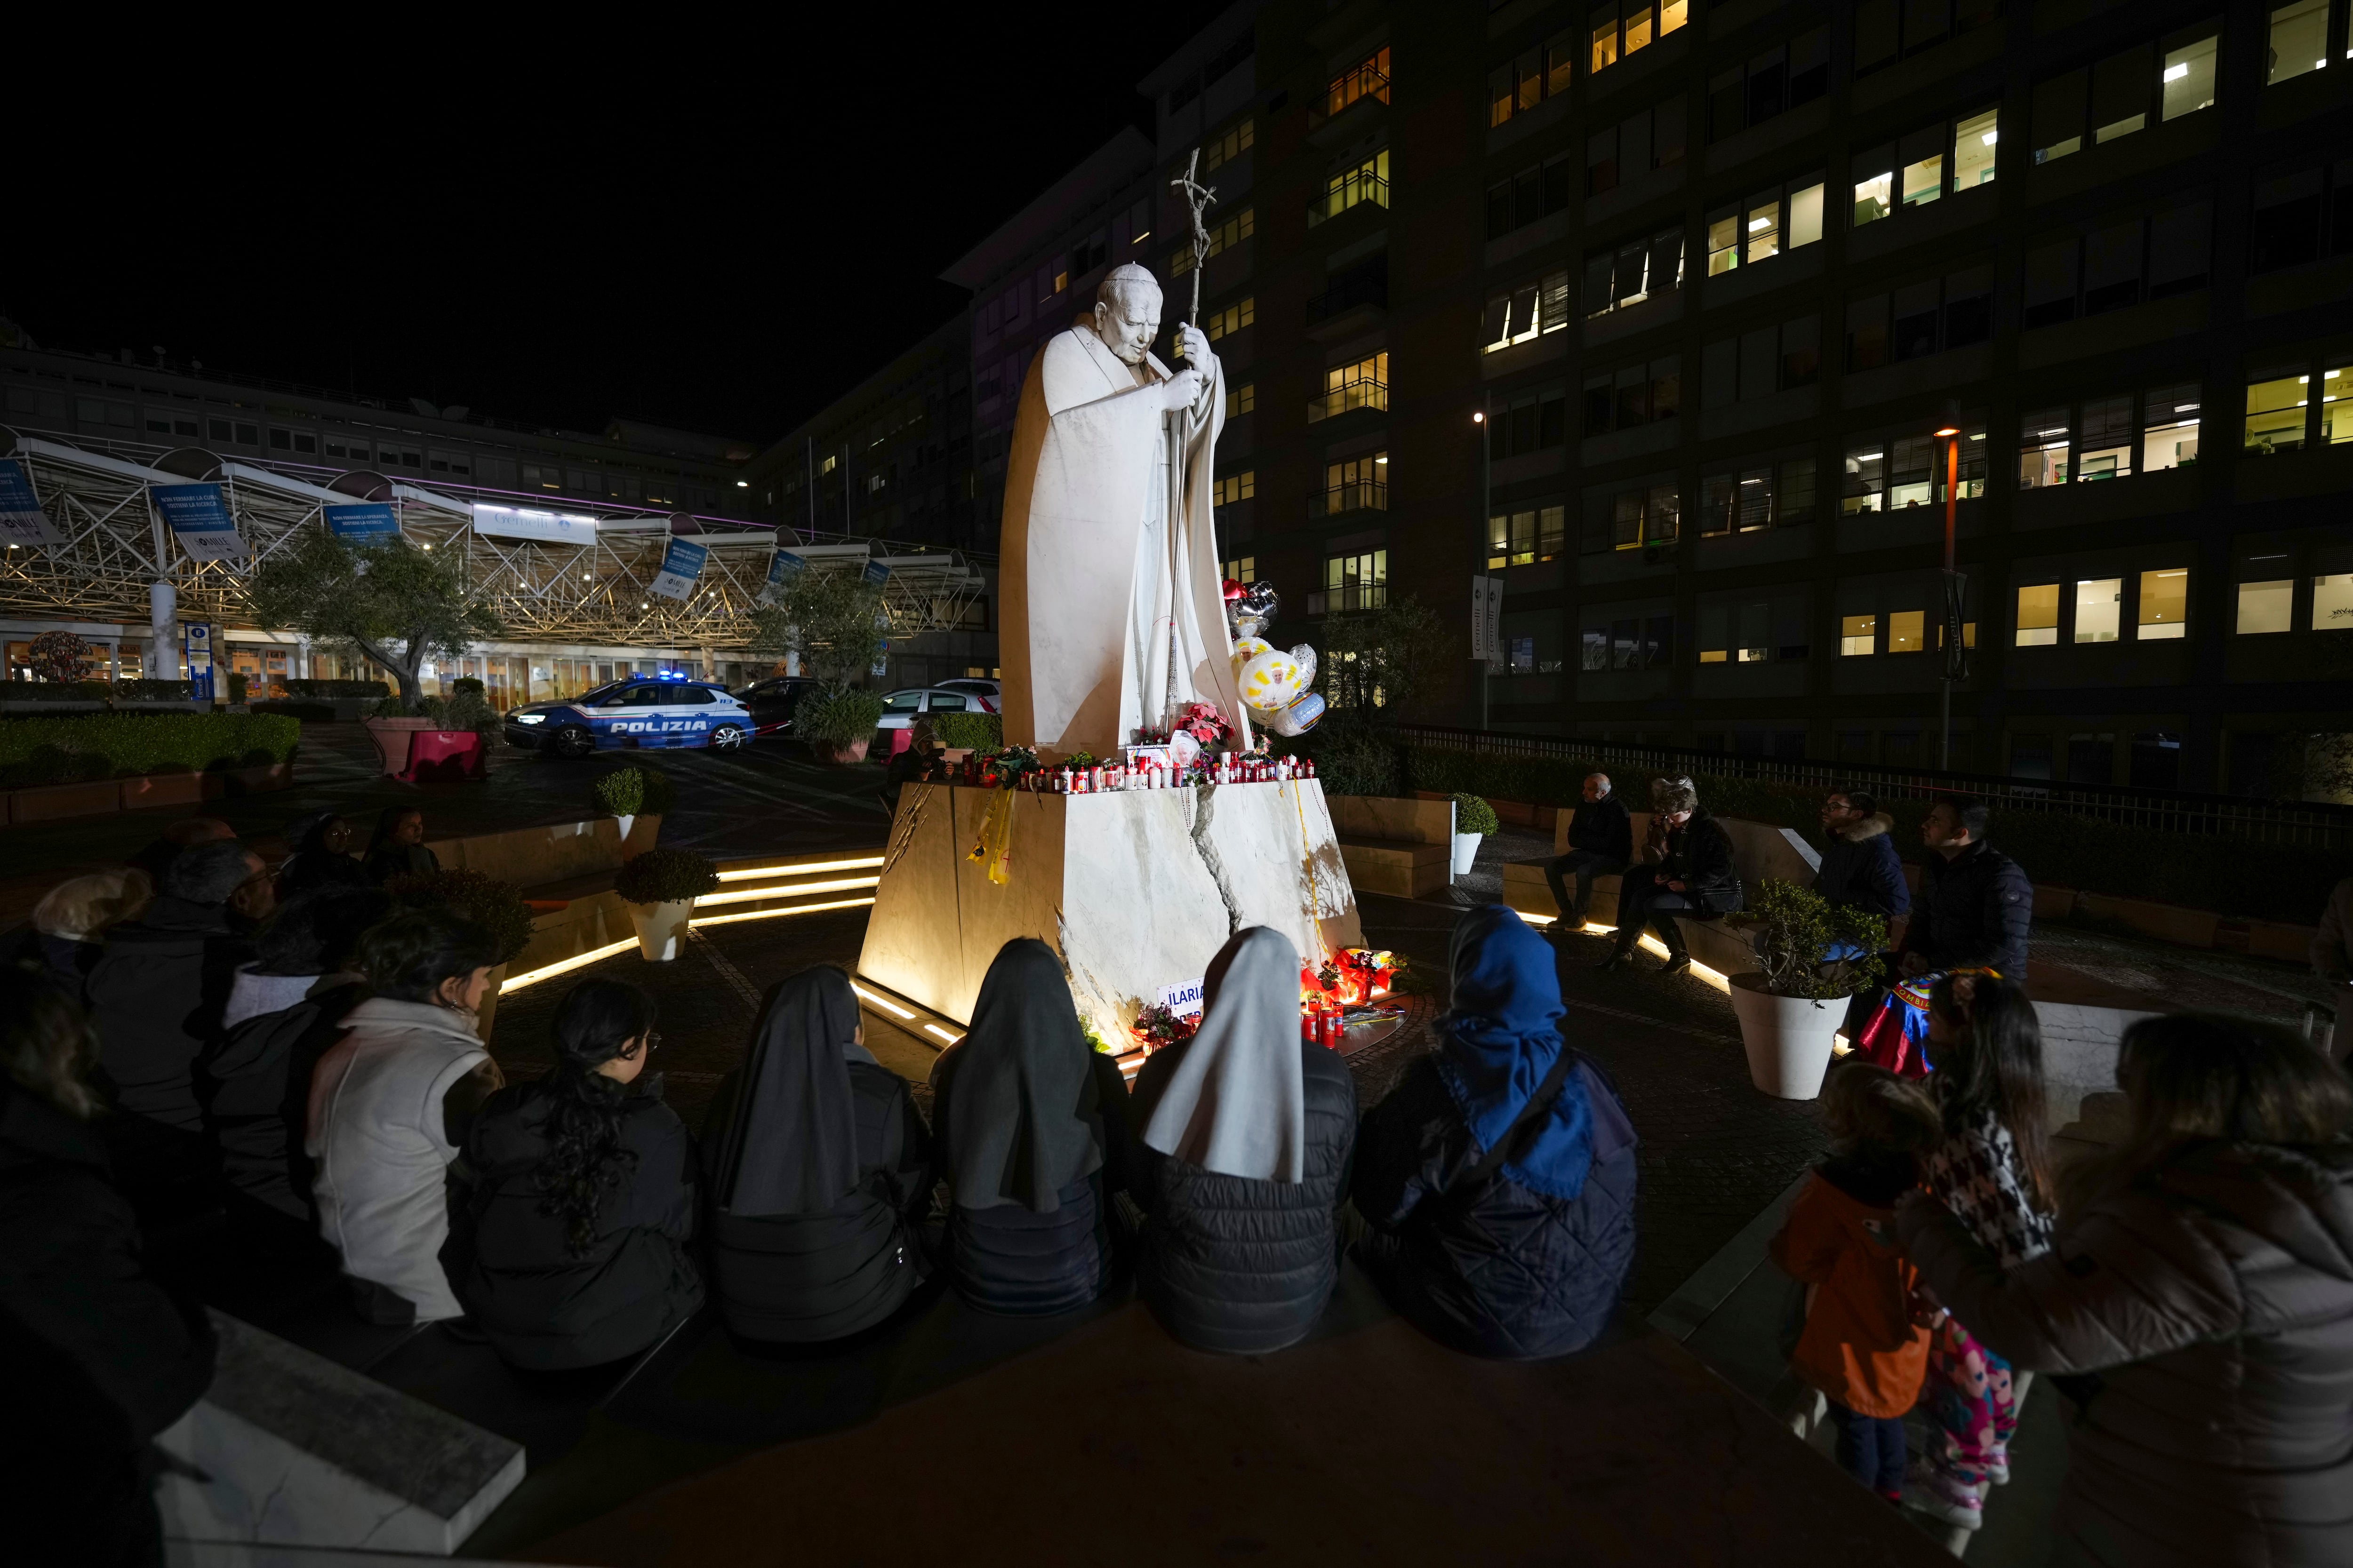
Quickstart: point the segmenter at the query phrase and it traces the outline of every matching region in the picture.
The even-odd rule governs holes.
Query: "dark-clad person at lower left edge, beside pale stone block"
[[[9,973],[0,1013],[0,1474],[38,1500],[12,1509],[9,1547],[26,1563],[160,1563],[151,1443],[212,1385],[212,1321],[139,1262],[87,1124],[80,1009]]]

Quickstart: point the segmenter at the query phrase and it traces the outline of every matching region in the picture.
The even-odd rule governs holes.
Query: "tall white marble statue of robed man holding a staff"
[[[1209,524],[1226,388],[1209,339],[1176,329],[1186,369],[1151,353],[1160,284],[1113,268],[1094,315],[1047,341],[1021,381],[1005,470],[1000,656],[1005,743],[1115,757],[1176,705],[1214,703],[1247,736]],[[1172,435],[1181,489],[1172,482]]]

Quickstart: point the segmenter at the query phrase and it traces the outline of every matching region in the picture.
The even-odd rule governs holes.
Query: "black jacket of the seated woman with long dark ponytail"
[[[551,1103],[546,1084],[513,1084],[482,1103],[466,1133],[473,1185],[442,1253],[499,1359],[534,1371],[633,1356],[704,1305],[687,1253],[694,1140],[678,1112],[654,1093],[621,1098],[621,1147],[635,1164],[605,1190],[588,1251],[572,1255],[567,1220],[541,1213],[536,1180]]]

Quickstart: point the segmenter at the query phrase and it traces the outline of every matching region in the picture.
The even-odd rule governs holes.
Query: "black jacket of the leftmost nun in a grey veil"
[[[729,1072],[704,1117],[704,1175],[734,1121],[741,1072]],[[927,1274],[922,1218],[932,1206],[932,1147],[915,1100],[889,1067],[849,1063],[861,1180],[821,1213],[711,1211],[711,1293],[746,1340],[819,1345],[873,1328]]]

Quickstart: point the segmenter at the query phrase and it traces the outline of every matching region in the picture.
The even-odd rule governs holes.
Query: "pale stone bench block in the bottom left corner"
[[[219,1312],[219,1371],[155,1443],[172,1540],[447,1556],[522,1483],[522,1448]]]

